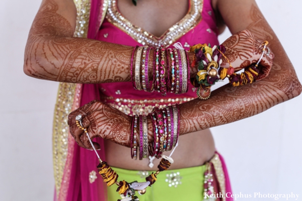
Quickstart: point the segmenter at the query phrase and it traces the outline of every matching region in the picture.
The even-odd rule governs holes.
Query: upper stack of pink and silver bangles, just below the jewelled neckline
[[[152,54],[154,75],[152,80],[149,80],[149,57]],[[156,90],[163,96],[166,96],[167,92],[183,94],[189,87],[188,67],[189,59],[184,49],[135,47],[131,56],[131,81],[136,90]]]

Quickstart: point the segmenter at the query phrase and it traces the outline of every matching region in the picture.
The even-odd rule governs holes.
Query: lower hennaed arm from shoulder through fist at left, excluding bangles
[[[255,1],[218,0],[218,3],[219,11],[232,33],[248,29],[262,41],[270,42],[270,48],[275,55],[273,66],[269,76],[261,81],[241,87],[226,85],[213,91],[207,100],[195,99],[181,104],[180,135],[259,114],[278,103],[298,96],[302,91],[290,60]],[[242,17],[238,18],[238,16]],[[238,55],[245,52],[240,50],[236,52],[236,48],[240,49],[240,46],[244,46],[237,44],[238,38],[240,34],[228,39],[231,42],[223,43],[227,49],[225,55],[231,59],[231,62],[242,60]],[[84,126],[88,127],[90,137],[101,137],[123,146],[130,146],[131,117],[98,101],[91,102],[69,114],[70,133],[80,146],[91,148],[86,135],[82,135],[83,130],[75,124],[75,116],[78,114],[85,115]],[[251,128],[257,129],[256,126],[251,125]],[[148,136],[149,142],[152,142],[153,126],[150,119]]]

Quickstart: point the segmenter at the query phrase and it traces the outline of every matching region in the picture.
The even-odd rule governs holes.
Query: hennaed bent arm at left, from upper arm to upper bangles
[[[72,83],[130,81],[133,47],[73,37],[73,0],[43,0],[24,58],[28,76]]]

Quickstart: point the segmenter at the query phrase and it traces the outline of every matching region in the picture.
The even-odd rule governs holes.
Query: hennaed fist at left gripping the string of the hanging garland
[[[132,117],[100,101],[92,101],[68,115],[69,131],[79,146],[92,149],[86,133],[75,123],[75,117],[80,114],[91,139],[100,137],[119,145],[130,146]],[[100,149],[98,143],[93,144],[96,149]]]

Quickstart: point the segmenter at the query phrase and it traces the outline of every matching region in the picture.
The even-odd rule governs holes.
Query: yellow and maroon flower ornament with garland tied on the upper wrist
[[[251,65],[246,68],[241,74],[235,73],[235,69],[229,59],[224,55],[225,47],[223,45],[215,45],[213,48],[211,48],[210,44],[197,44],[191,46],[190,52],[195,52],[191,67],[194,68],[198,63],[198,73],[196,78],[191,79],[191,83],[195,87],[198,87],[196,91],[198,98],[202,100],[208,99],[211,95],[211,86],[218,82],[218,80],[224,80],[226,77],[229,78],[230,83],[234,87],[256,81],[260,72],[258,64],[264,56],[268,42],[264,41],[262,45],[264,47],[258,62],[255,65]],[[268,49],[267,55],[269,54],[270,49]],[[230,64],[229,68],[222,68],[220,66],[222,63],[222,57],[224,57]]]

